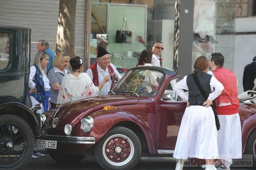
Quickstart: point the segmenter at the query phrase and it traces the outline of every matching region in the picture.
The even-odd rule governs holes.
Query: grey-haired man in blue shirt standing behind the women
[[[53,54],[52,50],[49,48],[48,41],[46,41],[46,40],[39,40],[38,43],[37,43],[37,51],[44,51],[49,56],[49,64],[46,67],[46,69],[47,69],[46,75],[48,75],[49,70],[51,70],[53,68],[52,61],[53,61],[53,59],[55,57],[55,55]]]

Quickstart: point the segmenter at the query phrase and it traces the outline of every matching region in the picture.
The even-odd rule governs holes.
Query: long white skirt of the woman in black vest
[[[189,106],[182,117],[173,157],[218,159],[217,129],[212,107]]]

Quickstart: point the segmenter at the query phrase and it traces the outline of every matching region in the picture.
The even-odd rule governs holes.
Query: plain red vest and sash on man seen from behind
[[[239,106],[239,100],[237,98],[238,91],[237,91],[237,80],[236,80],[236,75],[223,67],[218,67],[215,70],[212,70],[212,73],[214,77],[224,86],[224,90],[222,93],[215,99],[216,103],[216,111],[218,115],[230,115],[229,114],[219,114],[218,112],[218,107],[220,103],[231,103],[232,105],[237,105],[236,109],[234,112],[238,113],[238,106]],[[222,106],[221,106],[222,107]],[[228,106],[226,106],[228,107]],[[231,107],[231,105],[229,106]],[[221,108],[219,108],[221,109]],[[223,107],[224,109],[224,107]],[[221,109],[221,110],[223,110]],[[233,113],[235,114],[235,113]]]

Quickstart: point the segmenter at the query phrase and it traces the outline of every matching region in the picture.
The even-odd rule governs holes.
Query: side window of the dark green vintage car
[[[0,70],[5,69],[9,63],[10,56],[10,35],[0,33]]]

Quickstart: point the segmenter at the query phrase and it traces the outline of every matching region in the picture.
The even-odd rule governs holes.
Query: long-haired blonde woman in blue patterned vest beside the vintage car
[[[30,67],[28,93],[31,98],[32,106],[42,104],[43,107],[37,110],[36,113],[42,114],[49,110],[50,105],[50,85],[49,79],[46,76],[46,66],[49,63],[49,56],[43,51],[36,53],[34,63]]]

